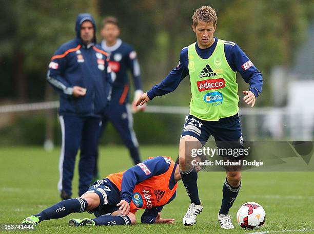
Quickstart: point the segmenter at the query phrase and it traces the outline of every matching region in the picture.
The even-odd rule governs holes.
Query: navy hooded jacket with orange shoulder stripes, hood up
[[[93,42],[83,44],[81,25],[89,20],[94,27]],[[60,94],[60,115],[103,115],[110,100],[112,79],[107,53],[96,45],[96,26],[90,14],[79,14],[75,24],[76,38],[58,48],[51,58],[47,81]],[[86,89],[86,95],[74,97],[73,87]]]

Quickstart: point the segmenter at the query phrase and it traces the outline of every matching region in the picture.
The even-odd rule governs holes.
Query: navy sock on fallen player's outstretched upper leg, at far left
[[[84,212],[86,208],[87,201],[85,199],[73,198],[50,206],[34,216],[39,217],[40,222],[42,222],[43,220],[63,218],[71,213],[81,213]]]

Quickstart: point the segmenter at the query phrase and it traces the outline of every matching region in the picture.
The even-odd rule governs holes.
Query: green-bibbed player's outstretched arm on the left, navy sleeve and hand
[[[174,91],[180,84],[180,82],[189,74],[188,72],[188,53],[187,48],[183,48],[180,54],[179,64],[159,83],[153,86],[153,88],[141,95],[136,101],[136,106],[143,105],[147,101],[153,99],[156,96],[162,96]]]

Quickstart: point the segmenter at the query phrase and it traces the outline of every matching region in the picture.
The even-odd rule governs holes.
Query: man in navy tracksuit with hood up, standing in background
[[[102,115],[110,100],[112,80],[107,53],[96,44],[95,22],[90,14],[76,18],[76,38],[56,50],[47,74],[60,94],[62,150],[58,189],[62,199],[72,195],[75,157],[81,150],[78,195],[92,182]]]

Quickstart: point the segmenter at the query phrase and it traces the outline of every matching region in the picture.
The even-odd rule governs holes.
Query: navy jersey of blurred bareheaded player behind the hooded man
[[[135,90],[142,90],[141,70],[136,52],[120,38],[113,46],[108,47],[104,40],[100,46],[109,54],[109,66],[116,74],[111,101],[119,101],[120,104],[127,103],[129,100],[128,70],[132,73]]]

